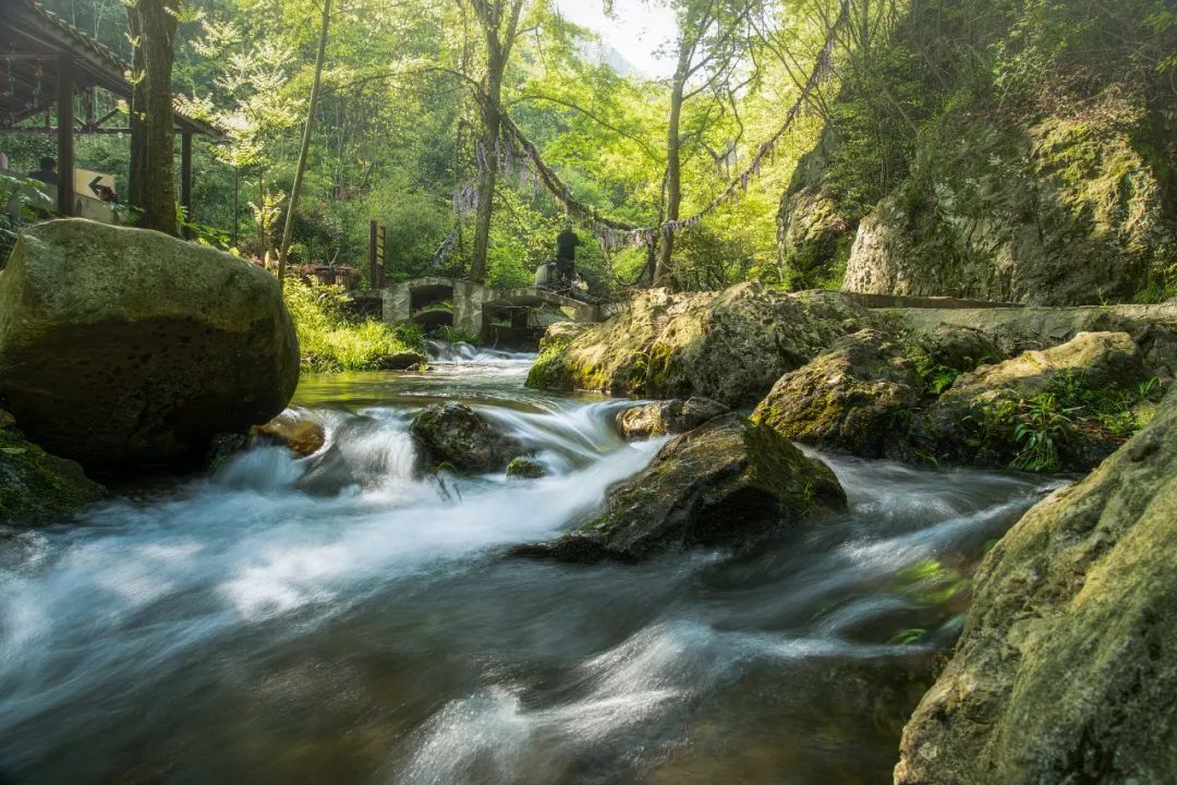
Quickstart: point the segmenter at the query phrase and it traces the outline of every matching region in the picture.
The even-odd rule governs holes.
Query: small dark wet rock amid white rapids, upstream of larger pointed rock
[[[521,452],[514,439],[457,401],[430,406],[417,415],[408,433],[427,468],[448,464],[458,472],[501,471]]]

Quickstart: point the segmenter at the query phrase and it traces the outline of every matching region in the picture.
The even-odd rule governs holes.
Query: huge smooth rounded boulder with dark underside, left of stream
[[[278,281],[227,253],[69,219],[27,229],[0,273],[0,403],[87,467],[202,455],[281,412],[298,368]]]

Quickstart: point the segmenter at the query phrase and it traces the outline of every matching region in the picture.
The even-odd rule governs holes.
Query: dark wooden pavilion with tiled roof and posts
[[[95,89],[129,100],[131,65],[35,0],[0,0],[0,134],[48,133],[58,138],[58,213],[74,214],[74,135],[129,133],[109,124],[118,109],[97,115]],[[80,99],[80,100],[79,100]],[[58,124],[52,126],[52,109]],[[80,109],[80,112],[79,112]],[[45,115],[32,125],[31,118]],[[68,119],[68,121],[64,119]],[[222,134],[175,113],[180,135],[180,204],[192,217],[192,137]]]

